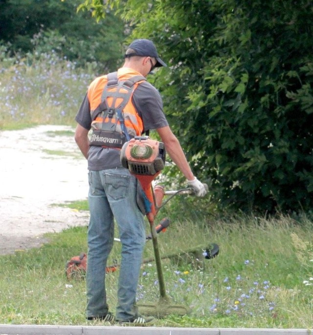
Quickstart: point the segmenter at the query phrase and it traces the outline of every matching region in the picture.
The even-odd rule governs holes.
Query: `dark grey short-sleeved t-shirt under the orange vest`
[[[148,82],[138,84],[132,96],[132,103],[143,122],[143,131],[168,126],[163,112],[162,98],[158,90]],[[76,122],[90,130],[90,104],[87,94],[75,117]],[[105,170],[121,167],[120,150],[100,146],[90,146],[88,151],[88,169]]]

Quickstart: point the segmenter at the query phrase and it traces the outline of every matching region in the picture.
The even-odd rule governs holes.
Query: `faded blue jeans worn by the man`
[[[136,203],[137,179],[128,169],[89,171],[87,317],[108,313],[105,269],[114,241],[114,219],[122,243],[116,319],[137,316],[136,290],[145,245],[144,216]]]

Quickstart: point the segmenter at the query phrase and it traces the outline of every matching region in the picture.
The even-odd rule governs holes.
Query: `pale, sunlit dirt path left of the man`
[[[0,131],[0,254],[38,247],[45,232],[88,225],[88,212],[51,206],[88,195],[87,161],[63,131],[73,129]]]

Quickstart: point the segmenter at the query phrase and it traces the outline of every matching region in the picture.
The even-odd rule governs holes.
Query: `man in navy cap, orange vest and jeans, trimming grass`
[[[203,184],[193,175],[179,141],[168,125],[159,92],[146,81],[145,77],[152,69],[160,66],[166,64],[158,57],[153,42],[135,40],[127,49],[125,63],[118,69],[117,76],[101,76],[90,84],[75,118],[78,123],[75,141],[88,159],[89,168],[88,319],[114,321],[105,288],[105,268],[113,245],[114,218],[122,243],[116,321],[143,326],[152,321],[138,315],[135,304],[145,225],[136,203],[137,180],[120,163],[122,144],[130,136],[156,129],[167,153],[187,178],[188,185],[198,196],[206,193]],[[119,106],[117,100],[122,101]],[[102,101],[104,105],[99,107]],[[114,119],[116,115],[118,122]],[[93,132],[89,141],[91,127]]]

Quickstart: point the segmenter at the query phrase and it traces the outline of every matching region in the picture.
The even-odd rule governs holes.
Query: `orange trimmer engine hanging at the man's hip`
[[[135,175],[154,176],[165,166],[164,144],[149,136],[136,136],[123,145],[121,164]]]

